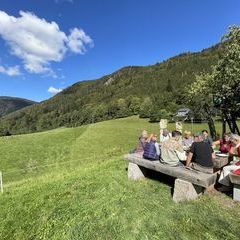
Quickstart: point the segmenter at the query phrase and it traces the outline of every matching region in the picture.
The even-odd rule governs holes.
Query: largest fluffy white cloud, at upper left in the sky
[[[30,12],[19,14],[14,17],[0,11],[0,35],[28,72],[54,75],[51,62],[61,62],[68,50],[83,54],[87,46],[93,46],[93,40],[82,29],[74,28],[67,36],[56,22],[47,22]]]

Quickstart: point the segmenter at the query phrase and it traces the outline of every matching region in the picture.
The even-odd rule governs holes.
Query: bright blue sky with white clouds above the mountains
[[[220,41],[239,0],[0,1],[0,95],[41,101],[82,80]]]

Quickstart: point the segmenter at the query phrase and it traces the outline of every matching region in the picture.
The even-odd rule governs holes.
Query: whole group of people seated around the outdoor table
[[[229,173],[235,171],[240,174],[240,136],[226,133],[223,138],[213,141],[207,130],[192,136],[190,131],[184,135],[180,131],[169,132],[160,130],[158,143],[156,134],[148,135],[144,130],[139,137],[139,145],[135,149],[143,158],[159,160],[169,166],[183,166],[204,173],[213,173],[214,149],[219,145],[219,152],[228,154],[229,165],[225,166],[220,174],[219,183],[230,186]],[[232,161],[234,160],[234,161]]]

